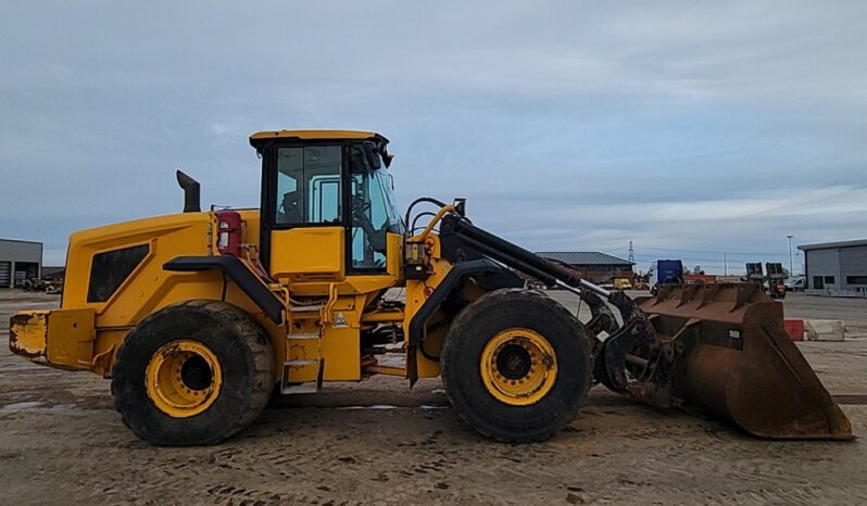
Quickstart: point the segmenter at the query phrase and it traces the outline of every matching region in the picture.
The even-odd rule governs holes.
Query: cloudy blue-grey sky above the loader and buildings
[[[178,212],[176,167],[257,205],[247,137],[298,127],[382,132],[401,205],[537,251],[721,273],[867,237],[865,2],[4,3],[0,237],[49,265]]]

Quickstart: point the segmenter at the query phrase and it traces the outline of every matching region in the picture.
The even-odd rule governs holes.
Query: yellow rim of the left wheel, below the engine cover
[[[181,339],[153,354],[146,382],[148,396],[161,412],[187,418],[203,413],[216,401],[223,370],[210,347]]]

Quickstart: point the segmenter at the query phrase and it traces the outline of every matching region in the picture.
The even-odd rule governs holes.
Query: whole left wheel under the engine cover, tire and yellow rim
[[[124,423],[158,445],[218,443],[259,416],[273,387],[267,334],[218,301],[189,301],[144,318],[112,369]]]

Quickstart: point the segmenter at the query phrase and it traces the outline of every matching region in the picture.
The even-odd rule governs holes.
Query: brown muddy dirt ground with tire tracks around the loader
[[[575,301],[553,293],[566,305]],[[58,298],[0,291],[9,315]],[[791,317],[843,319],[842,343],[800,347],[867,437],[867,300],[786,300]],[[160,448],[114,412],[109,382],[0,347],[0,504],[857,504],[867,446],[769,442],[633,404],[601,387],[553,440],[488,441],[439,381],[327,385],[267,408],[218,446]]]

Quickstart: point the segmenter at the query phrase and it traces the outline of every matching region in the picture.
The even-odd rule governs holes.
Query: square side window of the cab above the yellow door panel
[[[278,150],[276,224],[341,223],[342,152],[340,146]]]

